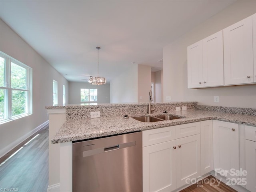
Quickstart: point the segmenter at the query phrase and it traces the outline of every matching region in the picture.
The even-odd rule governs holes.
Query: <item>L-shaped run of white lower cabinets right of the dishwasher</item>
[[[143,131],[143,192],[171,192],[212,170],[244,187],[245,176],[234,174],[240,168],[246,189],[256,192],[256,127],[243,128],[206,120]]]

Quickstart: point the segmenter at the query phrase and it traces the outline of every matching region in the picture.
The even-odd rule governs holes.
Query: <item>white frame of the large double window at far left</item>
[[[8,56],[0,51],[0,57],[4,58],[4,85],[0,86],[0,90],[4,90],[4,118],[0,119],[0,124],[17,118],[21,118],[32,114],[32,68],[22,62]],[[11,68],[12,63],[26,70],[26,88],[12,88]],[[12,91],[24,91],[25,96],[25,112],[17,115],[12,115]]]

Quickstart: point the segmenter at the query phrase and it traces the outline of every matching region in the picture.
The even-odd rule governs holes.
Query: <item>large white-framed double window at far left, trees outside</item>
[[[0,122],[32,113],[32,68],[0,52]]]

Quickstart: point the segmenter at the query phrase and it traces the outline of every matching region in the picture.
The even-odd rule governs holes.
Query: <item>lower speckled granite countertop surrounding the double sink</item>
[[[173,111],[168,114],[182,116],[184,118],[150,123],[140,122],[131,117],[124,119],[120,116],[67,120],[52,138],[51,142],[54,144],[98,138],[102,136],[149,130],[210,119],[256,126],[256,116],[250,115],[230,114],[206,110]],[[152,114],[151,116],[155,115],[158,114]]]

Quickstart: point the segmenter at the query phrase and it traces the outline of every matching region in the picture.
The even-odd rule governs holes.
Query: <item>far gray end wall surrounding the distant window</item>
[[[90,83],[69,82],[68,98],[70,104],[80,104],[80,89],[98,89],[97,103],[110,103],[110,84],[92,85]]]

